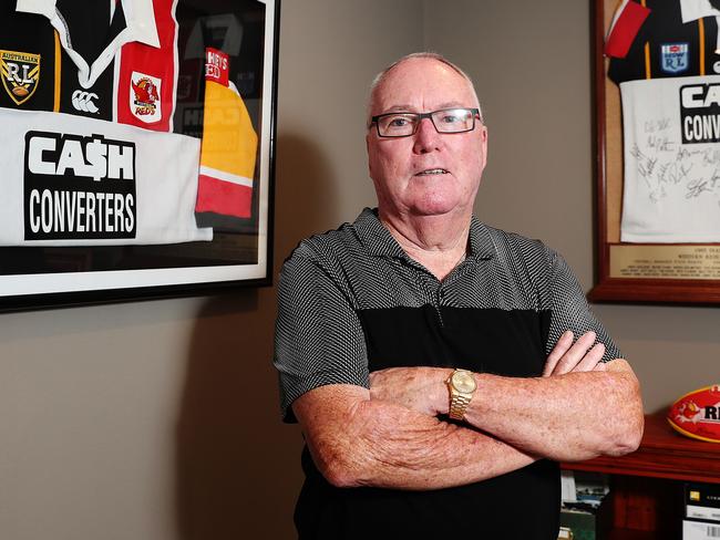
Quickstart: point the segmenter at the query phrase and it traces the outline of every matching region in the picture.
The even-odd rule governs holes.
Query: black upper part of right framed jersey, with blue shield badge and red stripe
[[[624,0],[606,40],[609,79],[720,73],[719,21],[710,0]]]

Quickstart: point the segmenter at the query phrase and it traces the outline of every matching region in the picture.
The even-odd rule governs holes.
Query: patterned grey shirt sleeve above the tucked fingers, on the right
[[[546,353],[549,354],[566,330],[573,331],[576,338],[592,330],[597,334],[597,341],[605,345],[604,362],[623,357],[603,323],[590,310],[585,293],[565,259],[551,249],[547,252],[551,270],[552,318],[545,344]]]

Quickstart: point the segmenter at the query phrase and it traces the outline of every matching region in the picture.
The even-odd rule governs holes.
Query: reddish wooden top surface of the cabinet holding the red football
[[[720,484],[720,444],[685,437],[670,427],[664,414],[655,414],[645,417],[645,434],[637,451],[563,464],[563,468]]]

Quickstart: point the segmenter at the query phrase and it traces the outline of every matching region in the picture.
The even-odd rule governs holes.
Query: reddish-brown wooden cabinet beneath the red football
[[[646,416],[637,451],[563,464],[563,468],[613,475],[610,540],[679,540],[683,485],[720,484],[720,444],[683,437],[669,426],[665,415],[656,414]]]

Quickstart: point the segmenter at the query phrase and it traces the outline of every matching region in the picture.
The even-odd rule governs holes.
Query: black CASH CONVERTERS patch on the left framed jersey
[[[29,131],[24,239],[135,238],[135,143]]]

